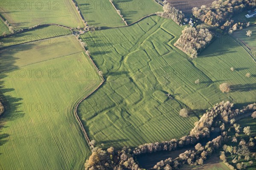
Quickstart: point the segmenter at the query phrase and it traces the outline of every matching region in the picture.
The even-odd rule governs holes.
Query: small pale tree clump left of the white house
[[[184,18],[185,18],[182,11],[179,11],[175,7],[171,6],[170,3],[166,3],[163,6],[163,11],[162,12],[157,12],[156,14],[161,16],[161,17],[166,17],[166,18],[172,19],[178,25],[180,25],[182,23],[182,21],[184,20]]]

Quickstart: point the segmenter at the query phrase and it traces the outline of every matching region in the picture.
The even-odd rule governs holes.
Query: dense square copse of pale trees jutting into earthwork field
[[[212,39],[213,34],[207,28],[186,28],[175,42],[175,46],[195,58]]]

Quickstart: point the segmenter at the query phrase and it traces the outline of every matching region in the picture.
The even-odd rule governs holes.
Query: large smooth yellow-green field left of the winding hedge
[[[83,169],[90,149],[73,107],[102,80],[76,38],[5,48],[0,69],[0,169]]]

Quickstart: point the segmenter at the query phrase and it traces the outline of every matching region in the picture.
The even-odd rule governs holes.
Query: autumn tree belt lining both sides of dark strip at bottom
[[[142,144],[133,150],[124,147],[123,150],[117,151],[113,147],[108,148],[107,151],[98,147],[94,148],[93,143],[90,143],[93,148],[93,153],[85,163],[85,170],[140,170],[138,164],[134,161],[134,156],[143,153],[153,153],[162,150],[176,150],[178,147],[184,147],[186,145],[195,145],[199,139],[209,137],[210,130],[215,128],[221,129],[221,136],[213,139],[202,147],[200,143],[195,145],[196,151],[186,151],[176,159],[166,159],[158,162],[155,165],[155,169],[172,170],[180,167],[182,164],[198,165],[203,164],[207,156],[210,156],[213,151],[221,147],[222,142],[229,140],[227,132],[225,131],[225,125],[223,122],[232,122],[234,117],[239,114],[246,113],[248,111],[256,111],[256,103],[248,105],[241,110],[232,110],[233,103],[220,102],[214,105],[212,108],[204,113],[198,122],[195,122],[195,127],[190,131],[188,136],[183,136],[180,139],[172,139],[165,142],[155,142]],[[212,127],[212,126],[215,126]],[[236,129],[239,130],[239,125],[234,124]],[[246,128],[248,132],[248,127]],[[250,131],[250,130],[249,130]],[[252,145],[252,144],[250,144]]]

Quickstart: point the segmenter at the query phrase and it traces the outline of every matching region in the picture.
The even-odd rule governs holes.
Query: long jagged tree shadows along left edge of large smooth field
[[[6,133],[6,130],[4,130],[5,128],[11,128],[7,123],[22,118],[25,114],[24,111],[20,109],[23,104],[20,101],[23,99],[11,95],[12,91],[15,91],[15,87],[6,87],[7,81],[15,81],[15,76],[11,76],[10,72],[13,73],[14,70],[19,69],[19,67],[15,65],[16,60],[19,58],[15,57],[14,54],[33,48],[33,46],[32,44],[22,45],[16,48],[5,48],[0,51],[0,101],[4,106],[4,112],[0,115],[0,147],[8,142],[10,136],[10,134]]]

